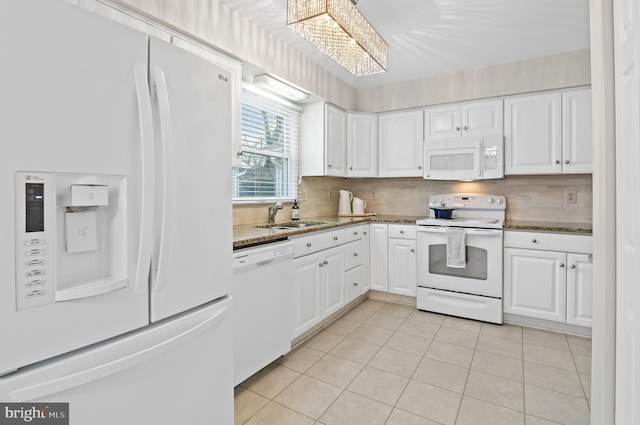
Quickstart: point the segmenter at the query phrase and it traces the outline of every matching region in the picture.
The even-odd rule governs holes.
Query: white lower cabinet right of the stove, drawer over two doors
[[[505,232],[504,312],[591,327],[591,236]]]

